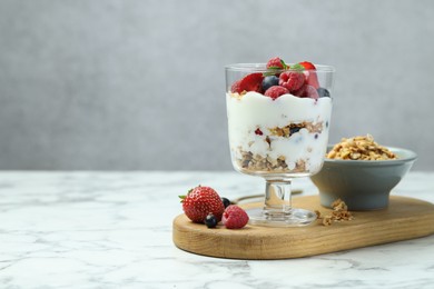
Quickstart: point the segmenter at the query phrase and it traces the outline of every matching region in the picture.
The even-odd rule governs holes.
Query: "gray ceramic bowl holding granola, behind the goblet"
[[[322,170],[310,177],[319,190],[320,205],[329,208],[333,201],[341,198],[349,210],[386,208],[391,190],[408,172],[417,158],[411,150],[387,148],[396,153],[398,159],[325,159]]]

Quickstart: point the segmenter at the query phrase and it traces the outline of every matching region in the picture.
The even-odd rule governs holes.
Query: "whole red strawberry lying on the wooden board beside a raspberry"
[[[221,220],[225,206],[213,188],[198,186],[189,190],[187,196],[179,196],[179,198],[184,212],[191,221],[204,223],[209,213],[216,217],[217,222]]]

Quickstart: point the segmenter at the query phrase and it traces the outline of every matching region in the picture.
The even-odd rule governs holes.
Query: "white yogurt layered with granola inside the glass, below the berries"
[[[319,171],[328,141],[332,99],[258,92],[226,93],[234,166],[250,172]]]

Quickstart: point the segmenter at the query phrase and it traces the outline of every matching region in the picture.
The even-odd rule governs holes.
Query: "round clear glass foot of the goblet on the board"
[[[249,223],[266,227],[302,227],[313,223],[317,216],[315,212],[292,208],[289,212],[267,213],[262,208],[247,209]]]

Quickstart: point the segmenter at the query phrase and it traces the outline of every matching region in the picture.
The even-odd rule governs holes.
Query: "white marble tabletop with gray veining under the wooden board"
[[[179,250],[177,196],[198,183],[229,198],[264,186],[236,172],[0,172],[0,288],[434,288],[434,236],[276,261]],[[393,193],[434,202],[434,172]]]

